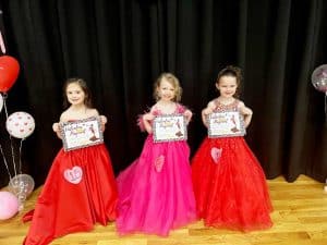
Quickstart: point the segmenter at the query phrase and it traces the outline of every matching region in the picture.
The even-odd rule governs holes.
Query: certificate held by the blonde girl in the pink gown
[[[153,122],[154,142],[186,140],[186,120],[184,115],[159,115]]]

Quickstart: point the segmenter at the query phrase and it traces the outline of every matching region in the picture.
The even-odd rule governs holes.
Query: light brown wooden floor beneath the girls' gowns
[[[204,228],[201,221],[171,232],[169,237],[134,234],[119,237],[114,223],[96,225],[93,232],[70,234],[55,240],[52,245],[327,245],[327,193],[323,184],[301,175],[287,183],[283,177],[268,181],[275,211],[274,226],[251,233]],[[26,201],[33,208],[39,189]],[[0,221],[0,245],[19,245],[28,223],[21,222],[22,213]]]

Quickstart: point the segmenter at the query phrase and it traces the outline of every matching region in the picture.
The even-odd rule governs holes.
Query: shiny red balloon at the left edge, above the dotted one
[[[20,73],[19,62],[9,56],[0,57],[0,91],[8,91]]]

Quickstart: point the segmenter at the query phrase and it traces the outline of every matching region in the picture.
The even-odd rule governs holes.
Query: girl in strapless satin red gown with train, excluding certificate
[[[65,102],[70,107],[61,122],[100,117],[101,130],[106,117],[92,108],[89,90],[81,78],[70,78],[64,85]],[[53,131],[61,138],[60,124]],[[24,220],[32,224],[24,245],[46,245],[68,233],[89,231],[96,222],[106,225],[116,219],[117,185],[109,152],[104,144],[70,151],[61,149],[53,160],[35,210]]]

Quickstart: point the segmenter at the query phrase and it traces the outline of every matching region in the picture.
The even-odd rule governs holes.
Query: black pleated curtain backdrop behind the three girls
[[[311,74],[327,63],[324,0],[2,0],[7,54],[21,65],[7,98],[26,111],[35,132],[22,148],[23,172],[43,184],[61,142],[51,130],[62,112],[68,77],[87,81],[95,107],[109,119],[105,142],[116,174],[138,157],[145,134],[137,114],[154,103],[153,82],[172,72],[193,112],[192,155],[206,136],[201,110],[217,96],[227,64],[244,71],[241,99],[254,117],[246,140],[268,179],[327,177],[324,94]],[[5,114],[0,142],[12,171]],[[12,139],[13,146],[19,139]],[[1,186],[9,174],[0,161]]]

